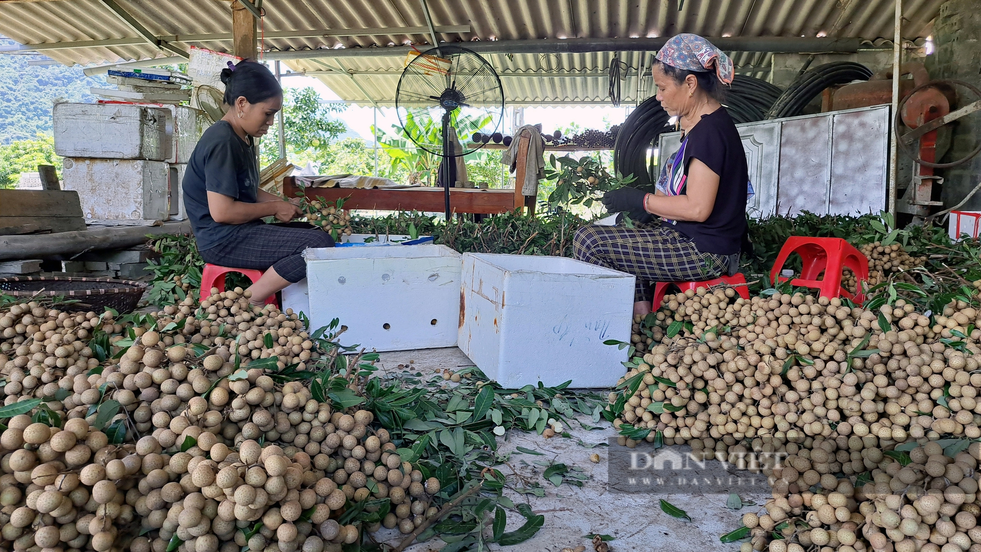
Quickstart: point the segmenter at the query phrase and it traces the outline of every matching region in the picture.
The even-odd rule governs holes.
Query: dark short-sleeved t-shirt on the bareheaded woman
[[[245,143],[228,121],[212,124],[201,135],[184,173],[184,209],[194,230],[199,251],[220,245],[240,224],[216,222],[208,209],[208,192],[254,204],[259,194],[259,168],[255,145]],[[246,222],[258,224],[259,221]]]

